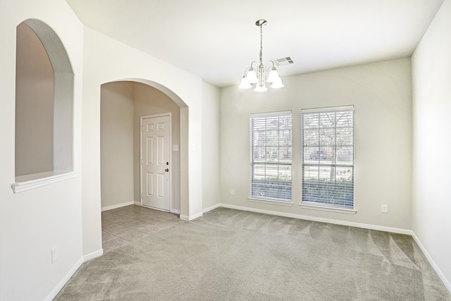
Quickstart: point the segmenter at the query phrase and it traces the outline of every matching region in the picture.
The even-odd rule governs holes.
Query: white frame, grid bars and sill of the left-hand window
[[[260,120],[259,122],[261,122],[264,119],[264,122],[266,123],[267,118],[284,118],[284,117],[290,117],[290,128],[288,129],[290,131],[290,144],[289,145],[277,145],[277,149],[278,149],[278,159],[277,162],[268,162],[266,159],[266,152],[267,152],[267,147],[276,147],[276,146],[271,146],[268,145],[265,139],[264,145],[254,145],[254,122],[256,120]],[[278,119],[279,120],[279,119]],[[278,141],[280,138],[280,130],[287,130],[285,129],[281,129],[280,128],[280,123],[278,124],[278,128],[277,128],[277,137],[278,137]],[[267,133],[269,130],[265,130],[265,133]],[[266,134],[265,134],[266,135]],[[266,137],[266,136],[265,136]],[[249,152],[249,171],[250,171],[250,175],[249,175],[249,201],[250,202],[260,202],[260,203],[267,203],[267,204],[276,204],[276,205],[280,205],[280,206],[292,206],[292,112],[291,111],[276,111],[276,112],[269,112],[269,113],[252,113],[249,116],[249,142],[250,142],[250,152]],[[260,162],[260,161],[255,161],[254,158],[254,148],[255,147],[265,147],[265,159],[264,162]],[[290,159],[289,160],[284,160],[282,162],[280,162],[280,148],[281,147],[286,147],[287,148],[287,152],[290,150]],[[254,189],[255,186],[254,184],[256,184],[256,182],[254,181],[254,175],[255,175],[255,170],[254,170],[254,165],[255,164],[264,164],[265,168],[267,165],[269,166],[278,166],[278,170],[277,170],[277,177],[280,177],[280,170],[279,170],[279,166],[290,166],[290,188],[289,188],[289,195],[290,198],[280,198],[280,197],[273,197],[273,195],[270,195],[268,197],[262,196],[262,195],[254,195]],[[266,169],[265,169],[265,177],[266,177]],[[286,187],[286,186],[285,186]]]

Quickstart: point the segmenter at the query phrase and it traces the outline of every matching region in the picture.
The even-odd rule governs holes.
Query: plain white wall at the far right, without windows
[[[412,56],[412,230],[451,292],[451,1]]]

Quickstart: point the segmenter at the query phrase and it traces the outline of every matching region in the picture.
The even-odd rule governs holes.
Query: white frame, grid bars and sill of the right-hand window
[[[320,158],[317,159],[314,158],[314,161],[317,163],[311,163],[309,162],[308,164],[306,164],[306,156],[307,154],[305,154],[306,149],[308,147],[311,146],[307,146],[306,144],[304,144],[304,136],[305,136],[305,128],[304,128],[304,116],[307,115],[311,115],[311,114],[321,114],[321,113],[338,113],[338,112],[352,112],[352,164],[338,164],[336,161],[336,158],[338,156],[338,154],[336,153],[336,148],[338,146],[337,144],[337,133],[336,133],[336,129],[339,128],[337,127],[337,125],[335,124],[333,129],[334,129],[334,144],[331,146],[332,148],[335,148],[335,152],[333,154],[333,156],[335,156],[335,163],[333,163],[333,161],[330,164],[324,164],[324,161],[322,161]],[[320,125],[319,125],[319,130]],[[318,137],[318,149],[319,151],[321,151],[321,135],[319,134]],[[330,147],[330,146],[329,146]],[[349,145],[348,145],[349,147]],[[325,146],[323,146],[323,148],[325,148]],[[299,203],[299,207],[301,207],[302,209],[316,209],[316,210],[321,210],[321,211],[332,211],[332,212],[338,212],[338,213],[345,213],[345,214],[356,214],[357,210],[355,209],[355,202],[354,202],[354,168],[355,168],[355,111],[354,111],[354,106],[350,105],[350,106],[335,106],[335,107],[326,107],[326,108],[317,108],[317,109],[302,109],[301,111],[301,178],[302,178],[302,189],[301,189],[301,202]],[[351,172],[351,190],[352,190],[352,206],[346,206],[343,204],[332,204],[330,202],[314,202],[313,200],[306,200],[304,199],[305,195],[304,192],[307,190],[306,188],[306,184],[305,184],[305,171],[306,171],[306,166],[318,166],[318,168],[322,167],[330,167],[331,170],[332,168],[337,168],[337,167],[345,167],[345,168],[352,168],[352,172]],[[333,167],[332,167],[333,166]],[[336,170],[335,170],[335,176],[336,176]],[[335,178],[334,176],[334,178]],[[336,193],[336,178],[334,179],[334,184],[330,185],[334,188],[333,192]],[[318,185],[318,187],[321,188],[321,184]],[[346,190],[348,188],[345,188]],[[330,190],[328,190],[330,191]],[[347,201],[346,201],[347,202]]]

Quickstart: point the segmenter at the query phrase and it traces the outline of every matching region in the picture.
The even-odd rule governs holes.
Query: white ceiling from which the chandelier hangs
[[[411,56],[443,0],[66,0],[88,27],[204,78],[237,85],[258,61],[280,75]]]

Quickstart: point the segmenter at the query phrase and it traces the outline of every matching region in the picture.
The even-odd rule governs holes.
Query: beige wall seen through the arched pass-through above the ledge
[[[16,42],[16,176],[53,171],[54,70],[25,23]]]

